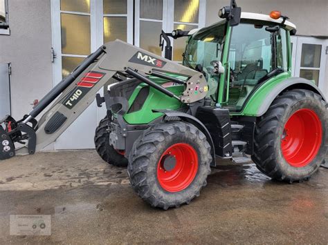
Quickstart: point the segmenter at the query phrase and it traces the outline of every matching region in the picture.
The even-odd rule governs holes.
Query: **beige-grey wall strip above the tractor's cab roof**
[[[229,0],[207,0],[206,26],[219,21],[217,12]],[[328,37],[328,0],[237,0],[244,12],[268,14],[280,10],[298,28],[298,35]]]

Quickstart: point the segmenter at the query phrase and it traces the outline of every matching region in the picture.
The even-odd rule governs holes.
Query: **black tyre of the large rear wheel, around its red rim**
[[[295,112],[311,110],[313,117],[318,118],[318,128],[322,128],[322,141],[318,141],[317,153],[304,166],[287,161],[284,157],[284,137],[289,136],[285,131],[286,123]],[[295,89],[284,92],[271,104],[268,111],[257,120],[255,128],[255,150],[252,156],[257,168],[272,179],[293,183],[307,180],[318,170],[327,152],[327,109],[325,101],[315,92]],[[304,124],[303,124],[304,125]],[[307,128],[307,127],[304,127]],[[309,135],[304,133],[304,141]],[[300,150],[295,155],[300,156]],[[303,151],[304,152],[304,151]],[[316,155],[314,155],[316,153]],[[294,153],[293,153],[294,154]],[[302,157],[300,157],[302,160]],[[300,160],[300,161],[301,161]],[[304,160],[305,161],[305,160]]]

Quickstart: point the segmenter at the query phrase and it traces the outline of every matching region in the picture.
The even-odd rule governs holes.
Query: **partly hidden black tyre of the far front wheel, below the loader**
[[[108,125],[110,120],[104,117],[95,129],[95,150],[100,155],[100,157],[106,161],[108,164],[113,166],[126,168],[127,158],[124,155],[118,153],[113,146],[109,144],[109,131]]]

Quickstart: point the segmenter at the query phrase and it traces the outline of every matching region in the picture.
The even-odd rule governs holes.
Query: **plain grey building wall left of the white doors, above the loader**
[[[11,63],[12,115],[30,112],[53,85],[51,0],[8,1],[10,35],[0,35],[0,63]]]

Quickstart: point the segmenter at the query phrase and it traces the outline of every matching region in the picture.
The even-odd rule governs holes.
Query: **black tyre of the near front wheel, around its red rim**
[[[176,144],[192,146],[197,153],[195,156],[198,168],[188,186],[183,190],[170,192],[160,184],[158,179],[160,166],[158,164],[160,164],[165,150]],[[145,130],[143,135],[140,135],[129,154],[127,170],[136,193],[152,206],[167,210],[171,207],[177,208],[181,204],[189,204],[194,197],[199,196],[201,188],[206,186],[211,161],[210,144],[198,128],[182,121],[169,121],[151,126]]]

